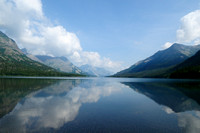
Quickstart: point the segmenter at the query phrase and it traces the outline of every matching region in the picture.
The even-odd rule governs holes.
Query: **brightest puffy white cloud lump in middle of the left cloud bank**
[[[38,30],[37,36],[27,30],[25,35],[20,38],[22,44],[27,44],[24,47],[32,54],[71,56],[74,52],[82,50],[77,36],[67,32],[62,26],[39,25]]]

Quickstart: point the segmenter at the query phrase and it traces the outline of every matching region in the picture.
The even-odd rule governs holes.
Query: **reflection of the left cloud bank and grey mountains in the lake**
[[[120,90],[113,85],[87,80],[58,81],[21,100],[10,114],[0,120],[0,131],[42,132],[58,129],[76,118],[83,103],[97,102],[101,96]]]

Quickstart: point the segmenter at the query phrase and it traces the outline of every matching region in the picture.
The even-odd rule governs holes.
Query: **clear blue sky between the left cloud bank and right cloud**
[[[130,66],[176,41],[199,0],[43,0],[45,14],[76,33],[82,48]]]

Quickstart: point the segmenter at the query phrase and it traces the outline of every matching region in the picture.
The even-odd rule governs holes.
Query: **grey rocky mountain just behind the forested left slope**
[[[59,71],[75,74],[84,74],[82,70],[73,65],[66,57],[51,57],[44,55],[36,55],[35,57],[45,65],[53,67]]]

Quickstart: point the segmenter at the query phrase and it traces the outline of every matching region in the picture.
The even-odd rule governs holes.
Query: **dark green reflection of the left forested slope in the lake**
[[[53,79],[0,78],[0,118],[31,92],[54,84]]]

